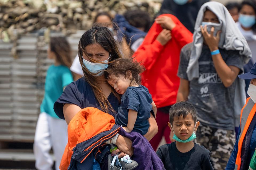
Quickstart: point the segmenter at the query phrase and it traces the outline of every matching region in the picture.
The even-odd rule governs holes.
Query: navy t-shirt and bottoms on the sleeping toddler
[[[118,107],[118,112],[115,116],[115,123],[127,127],[128,111],[129,109],[134,110],[138,112],[138,115],[133,131],[142,135],[146,134],[149,129],[148,119],[150,117],[150,112],[152,111],[152,102],[151,94],[145,86],[139,85],[139,87],[128,87],[121,97],[121,104]]]

